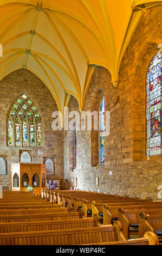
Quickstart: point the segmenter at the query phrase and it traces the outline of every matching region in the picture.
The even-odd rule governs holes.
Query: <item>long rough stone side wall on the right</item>
[[[84,110],[99,111],[104,95],[105,110],[111,113],[111,132],[105,138],[105,164],[101,165],[98,138],[94,139],[91,131],[77,131],[77,166],[73,172],[64,172],[65,178],[77,178],[76,188],[158,200],[158,186],[162,185],[161,156],[145,157],[145,76],[150,60],[159,50],[157,45],[162,42],[161,18],[161,7],[143,14],[122,59],[118,88],[111,84],[108,70],[95,69]],[[73,97],[71,100],[70,108],[77,110],[76,100]],[[98,166],[94,159],[98,159]],[[110,171],[113,175],[109,175]],[[95,185],[96,176],[99,186]]]

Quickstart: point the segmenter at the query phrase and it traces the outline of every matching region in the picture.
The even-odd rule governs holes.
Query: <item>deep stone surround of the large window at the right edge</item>
[[[162,154],[146,156],[146,74],[153,56],[158,53],[158,44],[159,42],[146,43],[134,60],[136,65],[134,82],[138,81],[140,88],[137,90],[135,86],[133,87],[133,162],[156,160],[162,157]]]

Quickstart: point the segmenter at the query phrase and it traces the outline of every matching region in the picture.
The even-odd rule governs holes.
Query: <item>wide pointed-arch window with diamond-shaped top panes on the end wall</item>
[[[10,107],[7,125],[8,146],[42,147],[41,117],[34,102],[25,93]]]

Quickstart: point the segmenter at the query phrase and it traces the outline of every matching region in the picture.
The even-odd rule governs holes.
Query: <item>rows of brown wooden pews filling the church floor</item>
[[[73,203],[80,199],[81,206],[74,210]],[[109,205],[114,202],[119,205],[150,203],[148,200],[86,191],[45,190],[40,195],[6,191],[0,199],[0,245],[159,244],[152,230],[146,231],[139,239],[128,241],[120,221],[102,225],[99,211],[94,212],[92,207],[89,209],[89,204],[92,206],[94,200],[102,208],[105,203]],[[92,217],[86,216],[86,202],[87,211],[92,212]]]

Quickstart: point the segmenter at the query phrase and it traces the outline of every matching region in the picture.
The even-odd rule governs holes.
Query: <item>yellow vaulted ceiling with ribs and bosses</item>
[[[49,88],[63,113],[67,94],[83,108],[96,65],[118,86],[120,63],[153,0],[0,0],[0,80],[27,68]]]

